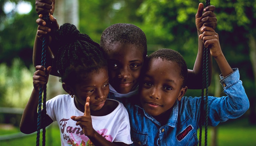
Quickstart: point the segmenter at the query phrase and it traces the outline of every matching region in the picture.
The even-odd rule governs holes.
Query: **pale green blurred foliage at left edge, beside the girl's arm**
[[[13,60],[12,66],[0,64],[1,107],[26,106],[33,89],[33,70],[34,66],[28,70],[19,58]]]

